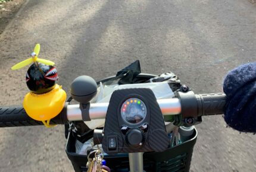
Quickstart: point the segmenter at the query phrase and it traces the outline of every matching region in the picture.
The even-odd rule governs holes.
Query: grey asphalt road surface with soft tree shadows
[[[139,59],[142,72],[173,71],[195,93],[216,93],[227,71],[256,59],[256,8],[248,1],[27,1],[0,35],[0,104],[21,104],[29,57],[56,63],[68,92],[79,75],[96,80]],[[191,171],[256,171],[256,136],[204,117]],[[0,171],[72,171],[63,126],[0,129]]]

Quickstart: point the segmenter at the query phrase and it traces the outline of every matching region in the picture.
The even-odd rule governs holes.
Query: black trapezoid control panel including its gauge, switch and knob
[[[163,114],[152,90],[130,88],[111,95],[102,148],[119,152],[161,152],[168,148]]]

